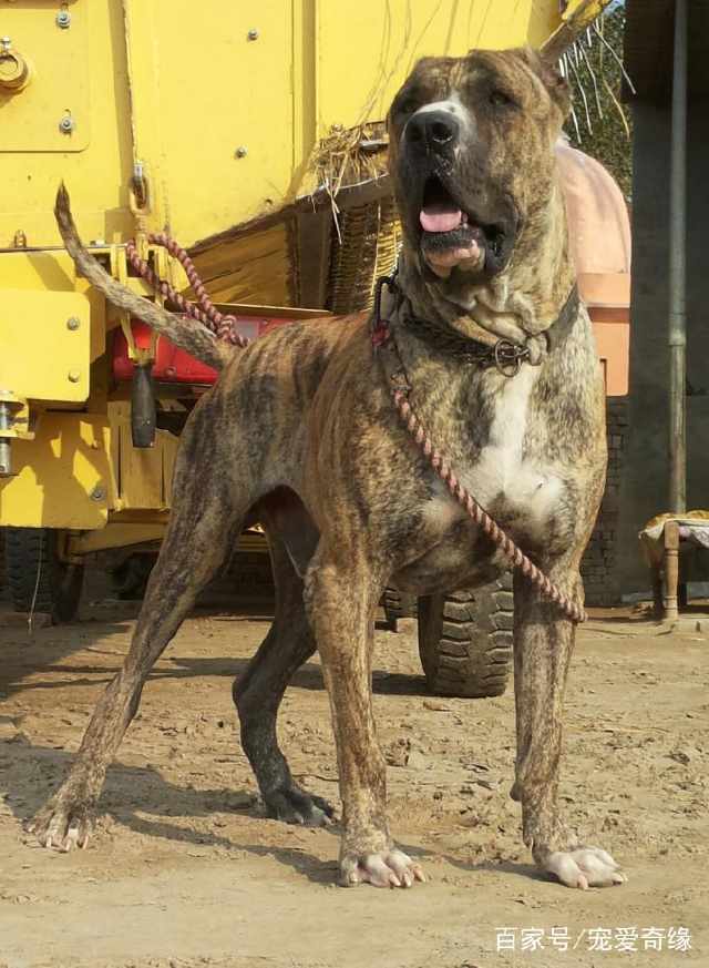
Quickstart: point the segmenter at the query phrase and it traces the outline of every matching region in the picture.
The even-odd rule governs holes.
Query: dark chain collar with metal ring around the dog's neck
[[[510,339],[499,339],[492,346],[481,343],[472,336],[464,336],[449,326],[433,323],[414,316],[408,307],[408,300],[401,292],[394,269],[391,276],[381,276],[374,289],[374,306],[371,320],[371,340],[374,348],[382,346],[390,338],[390,319],[382,316],[381,302],[384,288],[394,297],[394,312],[402,323],[411,327],[411,332],[420,339],[429,339],[435,344],[439,351],[450,353],[464,363],[475,364],[482,368],[495,366],[501,374],[513,377],[520,371],[522,364],[530,358],[530,349]],[[578,315],[578,287],[576,283],[566,297],[561,313],[547,329],[547,351],[553,353],[562,346],[571,333]]]

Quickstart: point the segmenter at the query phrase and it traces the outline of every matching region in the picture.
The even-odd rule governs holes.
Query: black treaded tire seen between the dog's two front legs
[[[419,599],[419,654],[435,695],[502,695],[512,669],[512,575]]]

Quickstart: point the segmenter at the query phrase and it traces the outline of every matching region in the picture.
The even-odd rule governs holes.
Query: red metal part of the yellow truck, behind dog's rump
[[[263,336],[269,329],[292,323],[291,318],[282,316],[237,316],[239,333],[247,339]],[[189,323],[189,320],[187,320]],[[151,329],[145,323],[132,320],[131,328],[135,345],[141,349],[151,346]],[[238,351],[238,350],[237,350]],[[129,345],[122,330],[117,330],[113,339],[113,376],[119,381],[132,380],[134,363],[129,356]],[[157,337],[153,379],[156,383],[192,384],[195,386],[212,386],[217,378],[217,371],[204,363],[189,356],[184,349],[178,349],[163,336]]]

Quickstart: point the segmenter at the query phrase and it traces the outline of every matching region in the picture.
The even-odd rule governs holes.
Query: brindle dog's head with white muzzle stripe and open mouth
[[[531,50],[419,61],[388,124],[405,246],[429,284],[450,293],[504,272],[542,221],[568,106]]]

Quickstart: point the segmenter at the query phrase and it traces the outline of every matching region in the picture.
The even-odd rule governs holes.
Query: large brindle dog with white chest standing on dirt
[[[574,289],[554,145],[564,82],[526,50],[421,61],[389,115],[403,224],[399,287],[383,315],[431,437],[477,500],[571,598],[604,488],[604,389]],[[326,823],[276,737],[284,691],[316,649],[332,712],[342,798],[340,878],[409,887],[421,867],[387,823],[374,727],[374,612],[389,582],[415,594],[489,581],[505,568],[412,442],[392,406],[383,348],[366,318],[308,320],[232,353],[110,279],[82,248],[60,192],[58,218],[80,271],[203,359],[224,366],[184,430],[174,507],[125,663],[101,697],[76,761],[33,822],[40,842],[85,845],[106,767],[151,666],[234,548],[244,522],[268,530],[274,624],[234,686],[242,742],[269,814]],[[564,307],[572,318],[559,332]],[[425,320],[424,324],[421,320]],[[515,376],[451,349],[500,338],[526,347]],[[459,340],[460,342],[460,340]],[[562,703],[574,624],[523,577],[514,582],[516,778],[537,865],[569,887],[623,882],[613,858],[562,821]]]

